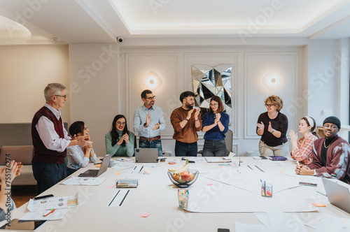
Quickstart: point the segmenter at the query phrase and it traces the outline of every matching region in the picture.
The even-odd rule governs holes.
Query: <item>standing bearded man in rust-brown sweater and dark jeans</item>
[[[182,106],[170,115],[174,127],[175,156],[197,157],[197,131],[202,129],[200,109],[195,110],[195,93],[186,91],[180,95]]]

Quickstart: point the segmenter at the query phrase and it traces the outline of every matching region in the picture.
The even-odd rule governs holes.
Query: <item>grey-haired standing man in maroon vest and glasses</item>
[[[68,136],[59,108],[66,102],[66,87],[52,83],[45,87],[45,106],[35,113],[31,121],[31,139],[34,157],[31,161],[36,193],[41,194],[66,177],[66,147],[89,145],[89,136]],[[86,139],[86,140],[85,140]]]

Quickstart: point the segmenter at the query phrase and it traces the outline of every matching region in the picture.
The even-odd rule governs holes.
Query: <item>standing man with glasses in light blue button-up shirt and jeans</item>
[[[162,157],[162,141],[160,131],[167,129],[163,111],[154,106],[155,96],[149,89],[141,93],[144,105],[134,113],[134,131],[139,133],[139,147],[158,148],[158,157]]]

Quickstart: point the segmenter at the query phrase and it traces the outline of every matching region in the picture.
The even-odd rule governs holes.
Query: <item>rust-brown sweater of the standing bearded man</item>
[[[188,111],[184,110],[182,107],[176,108],[172,115],[170,115],[170,122],[172,122],[172,126],[174,127],[174,140],[178,140],[182,143],[195,143],[198,140],[197,131],[202,129],[202,119],[201,115],[198,115],[198,119],[200,120],[200,126],[195,126],[195,113],[193,112],[190,120],[188,120],[187,124],[181,128],[180,122],[182,122],[185,117],[188,115]]]

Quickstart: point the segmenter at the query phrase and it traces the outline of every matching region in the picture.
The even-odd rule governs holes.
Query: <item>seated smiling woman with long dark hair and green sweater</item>
[[[112,122],[112,128],[106,133],[106,152],[113,157],[132,157],[134,155],[135,135],[127,130],[127,119],[117,115]]]

